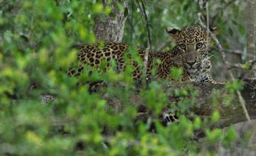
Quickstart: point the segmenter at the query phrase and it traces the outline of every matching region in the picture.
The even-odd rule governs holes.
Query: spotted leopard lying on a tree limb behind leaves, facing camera
[[[211,28],[210,32],[213,35],[218,35],[220,28]],[[174,81],[171,76],[171,68],[182,68],[181,82],[202,82],[202,83],[218,83],[213,80],[210,75],[212,67],[210,63],[210,43],[212,39],[207,34],[206,30],[200,26],[187,26],[185,28],[176,29],[166,27],[166,33],[174,39],[176,45],[171,50],[159,52],[149,50],[148,48],[137,48],[137,54],[144,61],[147,53],[146,62],[146,77],[153,77],[152,69],[156,67],[154,77],[159,79],[167,79]],[[82,64],[90,67],[100,67],[101,62],[106,62],[105,69],[111,67],[110,61],[116,63],[118,73],[124,72],[127,63],[125,55],[129,53],[129,44],[126,43],[100,43],[80,45],[78,47],[79,54],[77,59]],[[160,60],[160,63],[154,63],[155,60]],[[132,79],[142,79],[142,67],[136,61],[132,61]],[[77,69],[71,68],[68,70],[68,76],[79,76],[85,67],[80,65]],[[89,86],[89,91],[96,91],[103,82],[92,82]],[[164,111],[163,118],[166,125],[173,122],[178,122],[178,118],[174,113]]]

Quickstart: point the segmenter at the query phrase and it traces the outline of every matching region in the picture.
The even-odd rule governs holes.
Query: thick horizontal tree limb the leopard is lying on
[[[199,91],[196,96],[193,96],[195,100],[194,106],[189,108],[189,111],[194,113],[194,116],[189,114],[184,114],[187,118],[193,121],[193,118],[196,116],[200,118],[210,118],[214,111],[218,111],[220,113],[220,120],[213,123],[208,124],[208,128],[225,128],[231,126],[235,123],[240,123],[243,121],[247,121],[245,117],[242,107],[240,106],[238,96],[236,94],[231,94],[228,89],[225,88],[225,84],[199,84],[199,83],[182,83],[175,84],[169,87],[166,87],[165,92],[174,91],[174,89],[184,89],[188,84],[192,84],[193,91]],[[213,94],[213,91],[218,94]],[[251,119],[256,119],[256,79],[254,80],[245,80],[244,89],[241,91],[241,95],[243,99],[246,101],[246,107]],[[233,95],[233,97],[232,97]],[[232,98],[228,98],[229,97]],[[122,100],[114,96],[108,96],[105,94],[103,97],[107,101],[107,108],[114,108],[115,113],[119,113],[124,111],[124,105],[122,104]],[[147,122],[147,119],[150,118],[159,118],[160,123],[164,123],[164,118],[159,116],[154,116],[154,114],[149,113],[149,108],[147,108],[146,104],[144,104],[144,97],[141,95],[132,95],[129,97],[129,102],[133,106],[137,107],[138,113],[137,120]],[[43,100],[43,99],[42,99]],[[50,100],[53,100],[50,97]],[[188,96],[189,100],[189,96]],[[213,100],[217,101],[216,105],[213,105]],[[230,102],[228,103],[228,100]],[[45,102],[44,102],[45,101]],[[48,103],[48,99],[42,101],[43,103]],[[171,94],[169,96],[169,104],[176,104],[180,101],[178,96]],[[188,103],[190,104],[190,103]],[[200,105],[198,107],[198,105]],[[63,117],[61,117],[63,119]],[[65,126],[70,124],[68,119],[60,120],[60,118],[53,116],[53,125],[54,126]],[[197,130],[195,132],[197,138],[204,137],[204,130]]]

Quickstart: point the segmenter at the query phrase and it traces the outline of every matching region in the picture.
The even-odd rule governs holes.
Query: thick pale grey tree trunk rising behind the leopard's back
[[[97,38],[97,42],[104,40],[105,42],[115,42],[121,43],[124,35],[124,24],[126,21],[126,17],[124,17],[124,12],[119,11],[116,7],[114,7],[114,3],[119,3],[120,0],[112,0],[110,4],[112,8],[112,13],[114,13],[114,18],[110,17],[110,15],[103,15],[105,17],[105,21],[102,21],[100,16],[95,17],[95,26],[94,33]],[[102,1],[102,3],[106,6],[106,0]],[[125,1],[123,4],[124,9],[128,6],[128,1]]]

